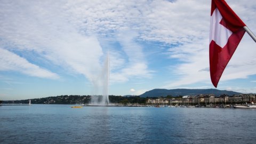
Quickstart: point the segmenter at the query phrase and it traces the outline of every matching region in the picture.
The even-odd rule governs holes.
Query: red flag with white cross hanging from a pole
[[[211,80],[215,87],[244,36],[244,26],[224,0],[212,0],[209,54]]]

